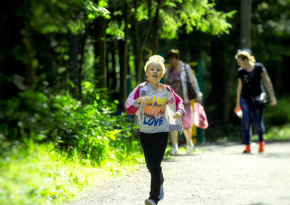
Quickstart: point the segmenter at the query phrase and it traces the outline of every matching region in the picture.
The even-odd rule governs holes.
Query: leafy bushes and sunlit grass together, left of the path
[[[66,201],[100,172],[117,175],[122,164],[138,162],[141,145],[131,138],[126,115],[115,115],[119,101],[107,102],[106,92],[90,86],[84,90],[86,96],[97,93],[92,104],[29,89],[1,101],[8,105],[0,112],[2,204]]]

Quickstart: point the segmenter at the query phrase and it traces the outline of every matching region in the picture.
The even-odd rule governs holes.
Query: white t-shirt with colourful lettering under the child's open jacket
[[[152,103],[145,104],[142,108],[140,132],[168,132],[169,126],[165,117],[165,107],[168,101],[168,93],[166,89],[164,88],[162,91],[155,91],[148,83],[147,96],[152,97]]]

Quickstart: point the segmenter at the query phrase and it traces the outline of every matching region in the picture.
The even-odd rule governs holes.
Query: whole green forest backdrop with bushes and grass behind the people
[[[233,112],[238,68],[234,56],[241,46],[240,8],[246,2],[3,3],[0,201],[69,200],[89,184],[88,170],[76,171],[78,166],[95,168],[94,174],[104,167],[117,174],[124,162],[137,162],[142,154],[138,129],[134,117],[124,112],[124,103],[144,82],[149,55],[165,57],[172,48],[180,50],[182,61],[198,63],[192,68],[204,94],[206,141],[240,141],[241,121]],[[277,106],[267,105],[265,139],[287,140],[290,1],[253,0],[251,6],[252,55],[265,65],[278,99]],[[27,175],[20,175],[17,166],[26,167],[21,173],[27,170]],[[45,178],[46,185],[39,186],[31,176]],[[70,186],[59,184],[61,180]],[[24,191],[19,181],[26,184]]]

